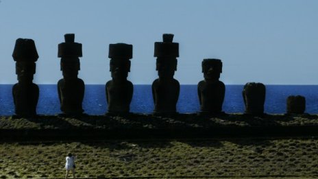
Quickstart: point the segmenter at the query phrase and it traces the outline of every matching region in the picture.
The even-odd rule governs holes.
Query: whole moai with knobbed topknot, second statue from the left
[[[74,34],[65,34],[65,43],[58,45],[58,57],[61,58],[61,71],[63,79],[58,81],[58,98],[64,115],[82,115],[82,102],[85,85],[77,77],[79,57],[82,57],[82,44],[75,43]]]

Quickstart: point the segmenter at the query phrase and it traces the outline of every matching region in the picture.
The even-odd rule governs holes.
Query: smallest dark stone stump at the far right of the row
[[[304,114],[306,99],[303,96],[289,96],[287,98],[287,114]]]

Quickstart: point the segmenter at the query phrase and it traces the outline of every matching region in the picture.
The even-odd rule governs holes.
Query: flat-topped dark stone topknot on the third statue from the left
[[[108,58],[110,59],[132,59],[132,45],[116,43],[109,45]]]

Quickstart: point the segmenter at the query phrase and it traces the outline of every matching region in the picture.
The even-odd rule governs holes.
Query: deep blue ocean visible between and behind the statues
[[[40,84],[40,97],[37,112],[39,115],[56,115],[60,113],[60,102],[55,84]],[[223,111],[227,113],[244,112],[242,97],[243,85],[227,85]],[[289,95],[303,95],[306,97],[306,112],[318,113],[318,85],[267,85],[265,112],[282,114],[286,112],[286,98]],[[107,111],[104,85],[86,85],[83,108],[88,115],[103,115]],[[130,111],[137,113],[151,113],[154,102],[151,85],[134,85],[134,95]],[[181,85],[180,97],[177,104],[180,113],[199,111],[197,85]],[[13,115],[14,104],[12,85],[0,85],[0,115]]]

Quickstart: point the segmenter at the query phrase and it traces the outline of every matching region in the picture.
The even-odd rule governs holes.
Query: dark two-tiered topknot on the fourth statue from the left
[[[162,41],[155,43],[154,57],[177,58],[179,57],[179,43],[173,43],[173,34],[163,34]]]

